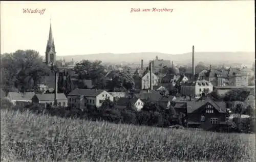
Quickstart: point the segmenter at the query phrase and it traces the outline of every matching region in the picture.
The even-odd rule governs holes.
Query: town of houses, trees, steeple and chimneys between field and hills
[[[255,119],[255,64],[195,65],[195,49],[191,46],[192,67],[187,69],[158,56],[148,63],[142,59],[139,68],[66,62],[56,60],[50,24],[44,62],[34,50],[1,55],[1,101],[32,111],[35,105],[75,111],[115,123],[253,132],[248,122],[238,125]]]

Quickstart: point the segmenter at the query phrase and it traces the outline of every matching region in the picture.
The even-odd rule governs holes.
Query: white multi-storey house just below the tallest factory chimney
[[[204,93],[213,91],[213,86],[208,80],[191,80],[181,85],[181,94],[200,98]]]

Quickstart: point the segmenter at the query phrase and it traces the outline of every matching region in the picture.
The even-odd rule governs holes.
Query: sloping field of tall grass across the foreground
[[[64,119],[1,110],[1,161],[255,161],[255,134]]]

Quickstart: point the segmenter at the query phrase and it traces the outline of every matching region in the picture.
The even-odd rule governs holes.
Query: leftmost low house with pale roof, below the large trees
[[[7,94],[7,99],[12,102],[13,105],[16,105],[17,101],[21,102],[32,102],[32,97],[35,95],[34,92],[25,92],[25,93],[19,93],[19,92],[9,92]]]

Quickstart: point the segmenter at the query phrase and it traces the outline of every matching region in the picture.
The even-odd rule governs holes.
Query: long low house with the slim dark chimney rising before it
[[[35,94],[32,98],[33,103],[38,104],[44,104],[47,106],[47,104],[54,105],[54,95],[52,93],[45,93],[45,94]],[[64,93],[58,93],[57,94],[57,104],[58,106],[68,106],[68,98]]]

